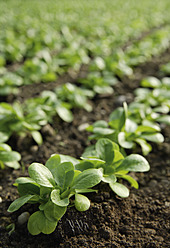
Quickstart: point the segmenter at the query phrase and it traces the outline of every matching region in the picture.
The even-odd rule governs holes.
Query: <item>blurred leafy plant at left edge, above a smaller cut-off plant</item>
[[[37,144],[42,144],[42,137],[38,130],[47,123],[45,112],[26,109],[26,106],[19,102],[12,105],[1,103],[0,120],[0,132],[8,134],[8,137],[13,133],[20,136],[31,134]]]

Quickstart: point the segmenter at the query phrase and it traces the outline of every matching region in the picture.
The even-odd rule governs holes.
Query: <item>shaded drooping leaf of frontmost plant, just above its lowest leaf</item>
[[[59,221],[65,214],[67,207],[60,207],[48,201],[44,207],[44,215],[49,221]]]

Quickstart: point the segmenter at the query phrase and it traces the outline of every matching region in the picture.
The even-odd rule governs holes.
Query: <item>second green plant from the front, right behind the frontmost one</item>
[[[80,171],[86,169],[102,169],[102,181],[108,183],[110,188],[120,197],[128,197],[129,190],[119,178],[127,180],[132,187],[138,188],[137,181],[128,175],[129,172],[146,172],[150,169],[147,160],[138,154],[124,157],[119,146],[109,139],[101,138],[95,147],[83,154],[82,161],[75,165]]]

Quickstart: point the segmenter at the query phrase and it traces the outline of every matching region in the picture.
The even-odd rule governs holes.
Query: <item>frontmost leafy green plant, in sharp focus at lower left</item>
[[[8,211],[14,212],[25,203],[39,203],[39,210],[28,220],[28,230],[32,235],[52,233],[73,196],[78,211],[89,209],[90,201],[83,193],[95,192],[91,187],[100,183],[102,171],[98,168],[77,171],[72,162],[78,163],[76,159],[56,154],[47,160],[45,166],[31,164],[28,168],[30,177],[16,180],[20,198],[11,203]]]

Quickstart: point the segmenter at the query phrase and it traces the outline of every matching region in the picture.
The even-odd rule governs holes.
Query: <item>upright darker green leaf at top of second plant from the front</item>
[[[97,155],[100,159],[110,165],[114,159],[113,144],[109,139],[99,139],[96,143]]]

